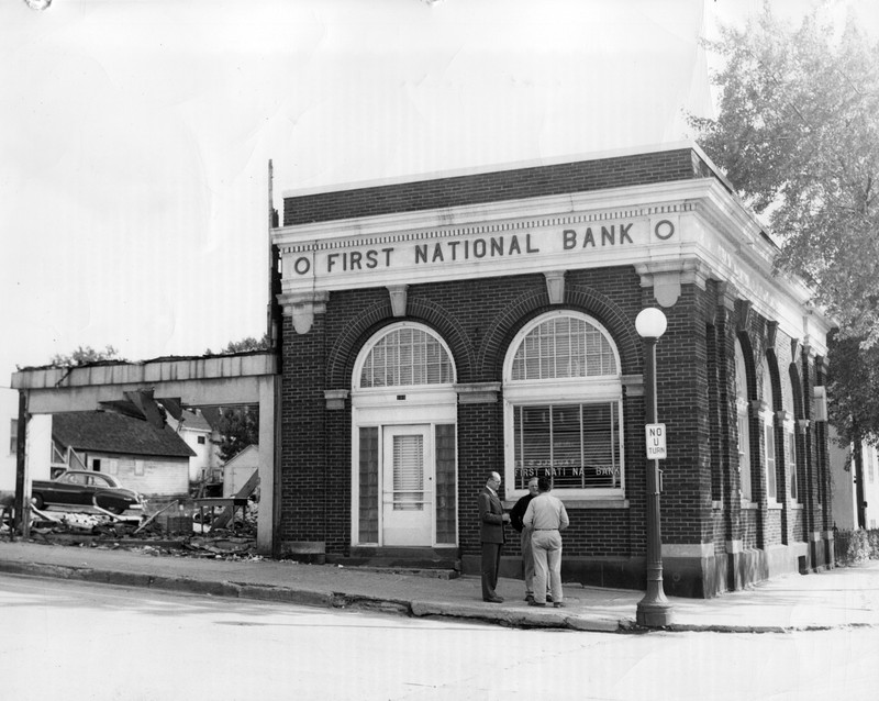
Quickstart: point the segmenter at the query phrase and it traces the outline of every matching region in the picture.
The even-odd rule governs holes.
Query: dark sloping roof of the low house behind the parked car
[[[109,411],[53,414],[52,437],[76,450],[163,457],[196,455],[170,426],[159,431],[146,421]]]

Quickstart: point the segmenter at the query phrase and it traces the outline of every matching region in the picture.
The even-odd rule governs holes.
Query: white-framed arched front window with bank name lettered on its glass
[[[503,372],[512,497],[543,475],[563,498],[623,497],[620,367],[610,334],[585,314],[544,314],[516,335]]]

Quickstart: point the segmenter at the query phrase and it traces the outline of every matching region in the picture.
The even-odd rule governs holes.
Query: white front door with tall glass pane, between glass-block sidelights
[[[430,425],[385,427],[381,499],[385,545],[433,545],[432,455]]]

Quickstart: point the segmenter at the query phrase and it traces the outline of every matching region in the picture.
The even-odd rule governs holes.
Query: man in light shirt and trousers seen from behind
[[[534,556],[534,601],[531,607],[546,605],[546,580],[553,592],[553,605],[564,607],[561,591],[561,533],[568,527],[568,512],[560,500],[549,493],[552,482],[548,477],[537,480],[538,494],[528,503],[522,522],[533,528],[531,549]]]

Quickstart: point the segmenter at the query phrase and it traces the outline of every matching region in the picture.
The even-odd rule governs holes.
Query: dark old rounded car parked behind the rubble
[[[98,505],[113,513],[143,508],[141,496],[125,489],[112,475],[87,470],[65,470],[52,480],[35,479],[31,487],[34,507],[46,504],[65,507]]]

